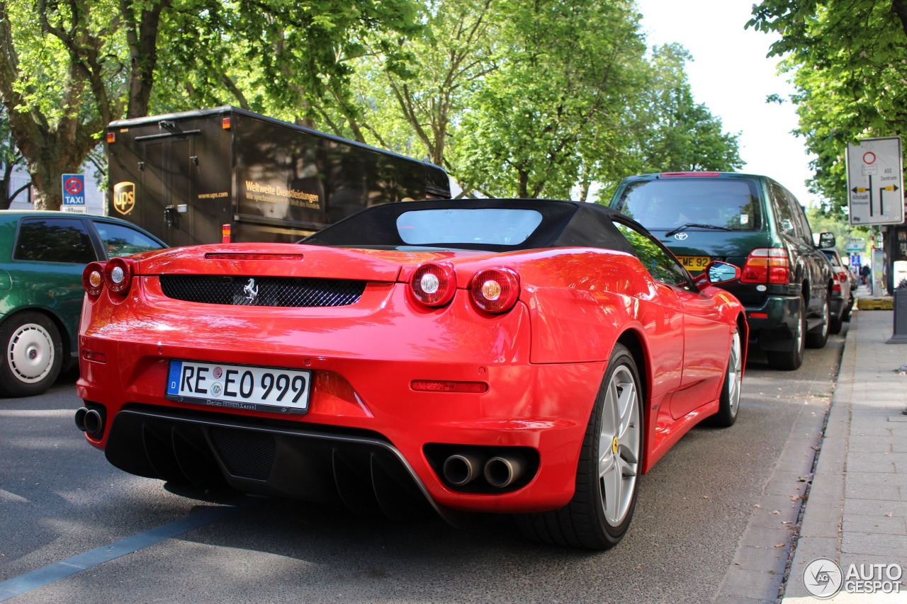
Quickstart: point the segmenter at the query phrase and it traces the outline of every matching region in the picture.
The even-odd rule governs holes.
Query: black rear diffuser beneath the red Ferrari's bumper
[[[121,470],[150,478],[346,504],[399,520],[431,506],[455,523],[379,434],[293,424],[132,405],[114,416],[105,454]]]

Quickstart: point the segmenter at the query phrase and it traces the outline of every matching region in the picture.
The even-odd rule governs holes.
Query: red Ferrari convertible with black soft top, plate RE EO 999
[[[557,200],[391,203],[297,244],[93,262],[75,422],[141,476],[508,513],[605,549],[673,443],[736,420],[746,317],[713,286],[738,277]]]

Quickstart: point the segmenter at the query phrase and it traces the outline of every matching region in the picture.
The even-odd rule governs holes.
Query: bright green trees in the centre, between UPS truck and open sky
[[[463,194],[586,200],[629,173],[741,165],[736,135],[692,100],[688,54],[649,60],[629,3],[426,8],[407,62],[369,54],[356,87],[368,141],[443,165]]]

